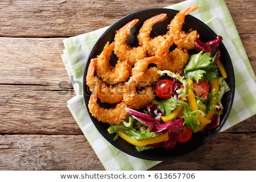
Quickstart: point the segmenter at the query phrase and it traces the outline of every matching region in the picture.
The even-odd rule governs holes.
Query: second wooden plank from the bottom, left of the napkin
[[[45,87],[0,85],[0,133],[81,134],[67,107],[75,93]]]

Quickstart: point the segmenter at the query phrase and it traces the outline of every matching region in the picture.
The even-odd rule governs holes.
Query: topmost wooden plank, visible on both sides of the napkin
[[[1,1],[0,36],[67,37],[109,26],[135,11],[166,7],[183,0],[121,1],[112,0],[29,0]],[[255,3],[226,1],[240,34],[255,34]],[[117,11],[118,9],[118,11]],[[246,28],[248,27],[248,28]],[[249,28],[250,27],[250,28]]]

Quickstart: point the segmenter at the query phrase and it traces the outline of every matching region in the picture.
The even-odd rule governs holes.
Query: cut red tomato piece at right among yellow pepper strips
[[[194,81],[193,89],[196,96],[207,98],[209,93],[209,84],[207,80],[202,80],[199,82]]]

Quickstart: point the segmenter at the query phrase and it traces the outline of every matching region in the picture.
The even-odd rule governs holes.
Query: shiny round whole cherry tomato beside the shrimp
[[[156,96],[160,98],[170,98],[172,94],[172,80],[164,78],[159,80],[155,85]]]

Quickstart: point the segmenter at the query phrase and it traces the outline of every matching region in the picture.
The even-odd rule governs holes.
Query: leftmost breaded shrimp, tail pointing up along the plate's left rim
[[[115,86],[102,83],[97,76],[94,76],[96,70],[97,58],[90,60],[86,75],[86,84],[89,86],[92,94],[97,94],[101,102],[116,104],[123,100],[123,84]]]

